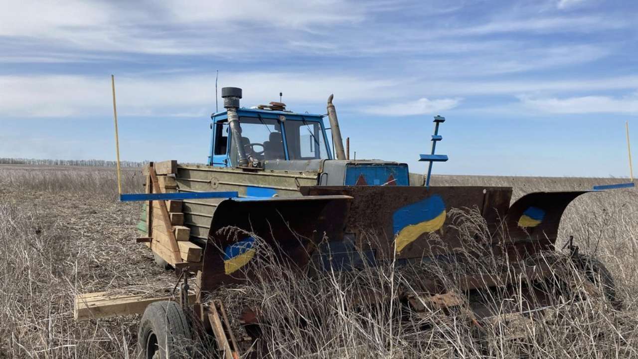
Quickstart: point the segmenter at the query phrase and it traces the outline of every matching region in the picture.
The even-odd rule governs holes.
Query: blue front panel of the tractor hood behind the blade
[[[408,165],[388,165],[388,164],[348,164],[344,185],[354,186],[357,184],[359,176],[366,179],[369,186],[409,186],[410,176],[408,175]]]

